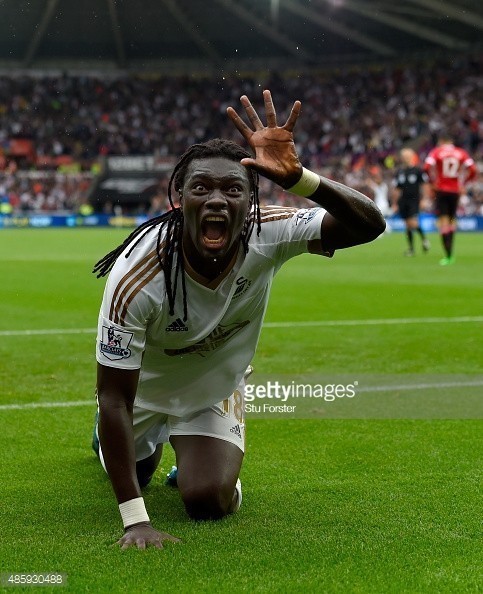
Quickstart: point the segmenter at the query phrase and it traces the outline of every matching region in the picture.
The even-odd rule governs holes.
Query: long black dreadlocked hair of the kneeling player
[[[164,272],[166,296],[168,298],[169,314],[174,315],[174,303],[176,299],[176,287],[178,285],[178,277],[181,274],[181,287],[183,290],[183,320],[188,319],[188,305],[186,299],[186,280],[184,274],[184,258],[181,253],[181,242],[183,237],[183,223],[184,217],[181,207],[175,207],[172,197],[172,188],[179,192],[183,187],[186,172],[189,164],[195,159],[208,159],[212,157],[222,157],[231,161],[239,162],[244,157],[251,157],[252,155],[242,148],[240,145],[230,140],[222,140],[215,138],[208,142],[192,145],[180,158],[175,165],[173,173],[171,174],[168,184],[168,200],[171,210],[146,221],[137,227],[117,248],[109,252],[104,258],[96,263],[93,273],[97,273],[97,278],[106,276],[114,263],[122,254],[122,252],[134,241],[125,254],[125,258],[129,258],[134,248],[151,230],[158,227],[157,241],[156,241],[156,255],[159,265]],[[245,254],[248,252],[248,242],[252,235],[255,221],[257,223],[257,234],[260,234],[261,216],[260,216],[260,201],[258,197],[258,173],[251,168],[247,168],[250,178],[250,203],[248,207],[248,214],[243,225],[240,236]],[[166,227],[166,235],[164,244],[161,242],[163,230]],[[173,260],[176,258],[176,268],[173,273]]]

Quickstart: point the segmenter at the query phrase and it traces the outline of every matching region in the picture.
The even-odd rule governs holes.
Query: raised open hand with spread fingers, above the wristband
[[[255,152],[254,159],[242,159],[241,164],[253,167],[282,188],[290,188],[302,174],[302,165],[293,141],[293,129],[300,114],[301,103],[295,101],[285,124],[278,126],[270,91],[263,91],[263,100],[266,126],[261,122],[246,95],[240,98],[240,102],[245,108],[252,128],[242,120],[233,107],[228,107],[226,110],[230,120]]]

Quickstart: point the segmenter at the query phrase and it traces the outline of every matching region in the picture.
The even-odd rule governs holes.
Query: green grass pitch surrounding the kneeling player
[[[0,573],[63,573],[72,592],[481,591],[482,236],[460,233],[449,267],[436,236],[404,258],[395,233],[289,262],[256,373],[346,377],[382,386],[377,403],[366,390],[248,418],[243,505],[220,522],[187,519],[167,449],[145,499],[182,543],[120,551],[90,450],[104,285],[90,271],[126,235],[0,232]]]

